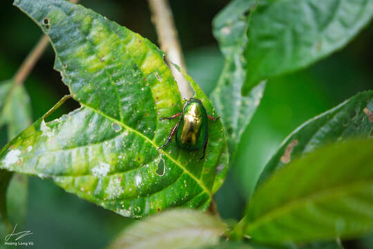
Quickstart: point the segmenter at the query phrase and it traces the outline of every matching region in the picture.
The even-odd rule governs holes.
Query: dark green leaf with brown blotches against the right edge
[[[301,154],[354,136],[373,136],[373,91],[358,93],[293,131],[265,165],[258,183]]]

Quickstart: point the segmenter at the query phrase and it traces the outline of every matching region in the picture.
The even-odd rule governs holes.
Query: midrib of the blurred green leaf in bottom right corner
[[[274,220],[278,218],[278,216],[281,216],[283,214],[286,215],[287,213],[291,212],[291,210],[296,210],[299,207],[304,206],[306,203],[322,201],[323,199],[328,199],[330,196],[330,199],[335,199],[337,197],[349,195],[352,192],[356,192],[356,190],[358,191],[363,189],[365,185],[373,185],[373,180],[370,179],[365,181],[356,181],[355,183],[350,184],[338,185],[336,187],[331,187],[321,192],[309,194],[308,196],[304,196],[303,198],[290,201],[289,203],[282,205],[280,208],[271,210],[267,212],[267,214],[260,216],[253,223],[249,223],[245,229],[247,231],[246,233],[252,232],[256,228],[260,227],[260,225],[262,225],[263,223]]]

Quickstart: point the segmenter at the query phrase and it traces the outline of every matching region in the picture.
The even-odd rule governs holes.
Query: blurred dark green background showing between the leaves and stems
[[[228,2],[171,0],[187,70],[207,95],[213,90],[224,62],[211,32],[211,20]],[[81,3],[157,43],[147,1]],[[0,26],[0,80],[7,80],[37,43],[41,30],[10,0],[0,1]],[[242,217],[245,202],[260,174],[258,168],[265,165],[291,131],[359,91],[373,89],[372,44],[370,24],[347,47],[327,59],[303,71],[269,80],[260,107],[242,136],[227,181],[216,194],[222,218]],[[68,94],[59,73],[52,70],[53,62],[54,53],[49,46],[25,82],[34,120]],[[54,116],[77,107],[76,102],[69,100]],[[0,129],[1,147],[7,139],[6,129]],[[37,248],[104,248],[132,222],[64,192],[48,179],[30,177],[28,196],[28,214],[21,227],[32,230]],[[350,241],[347,245],[364,247],[372,240]]]

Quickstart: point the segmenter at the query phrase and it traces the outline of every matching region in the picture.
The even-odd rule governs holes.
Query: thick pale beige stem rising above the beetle
[[[171,62],[173,62],[180,66],[183,71],[187,71],[169,2],[167,0],[149,0],[149,6],[152,12],[151,20],[157,30],[161,50],[166,53],[166,62],[169,64],[171,73],[178,83],[182,98],[189,99],[193,96],[193,89],[182,74],[171,65]]]

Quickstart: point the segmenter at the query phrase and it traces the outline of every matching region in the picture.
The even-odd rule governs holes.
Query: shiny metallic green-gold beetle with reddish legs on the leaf
[[[203,156],[200,159],[204,158],[204,151],[206,151],[207,142],[209,142],[209,129],[208,129],[208,120],[207,118],[216,121],[218,118],[213,118],[208,116],[206,109],[201,102],[196,98],[191,98],[187,100],[182,109],[182,113],[176,113],[171,117],[160,118],[160,120],[180,117],[180,121],[175,124],[171,130],[170,136],[167,139],[166,143],[157,149],[162,149],[166,146],[172,139],[173,134],[176,133],[176,145],[182,149],[187,149],[189,151],[196,151],[203,147]]]

